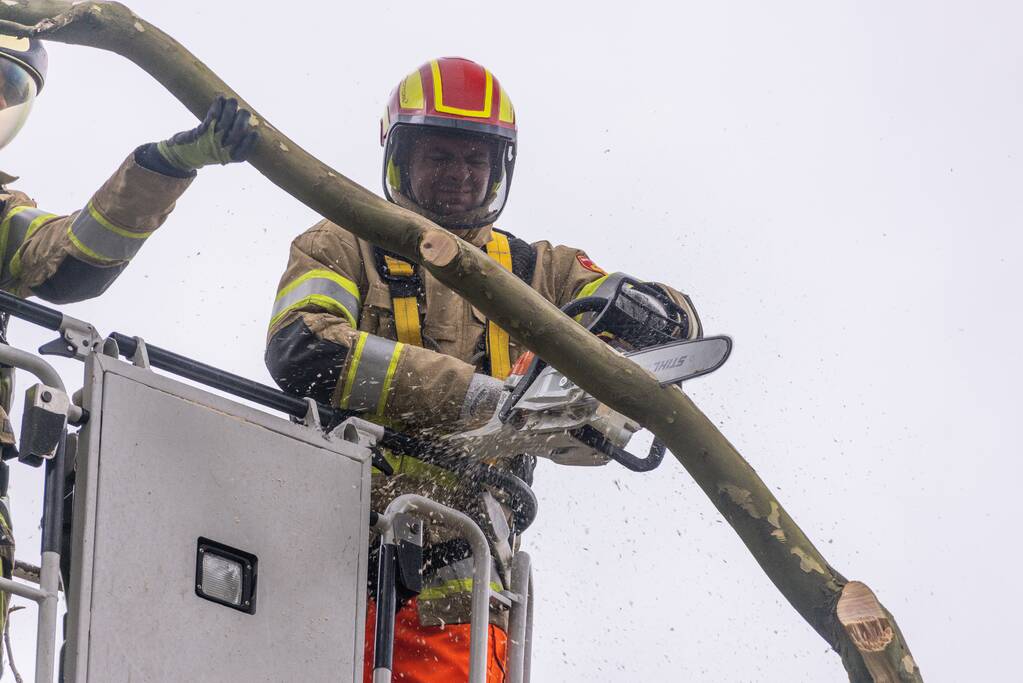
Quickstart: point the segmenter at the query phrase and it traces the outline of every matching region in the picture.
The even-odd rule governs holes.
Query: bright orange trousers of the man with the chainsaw
[[[366,609],[366,654],[362,680],[373,680],[373,629],[376,603]],[[487,683],[503,683],[507,634],[493,624],[487,645]],[[462,683],[469,680],[469,624],[420,626],[415,600],[399,610],[394,625],[392,680],[396,683]]]

